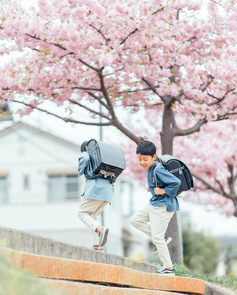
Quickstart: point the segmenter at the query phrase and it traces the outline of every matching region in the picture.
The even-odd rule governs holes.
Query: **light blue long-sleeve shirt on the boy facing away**
[[[93,176],[89,167],[90,157],[86,151],[82,152],[78,159],[78,174],[82,175],[84,172],[88,176]],[[93,199],[108,201],[111,203],[113,198],[114,186],[109,180],[103,178],[88,179],[84,187],[84,199]]]

